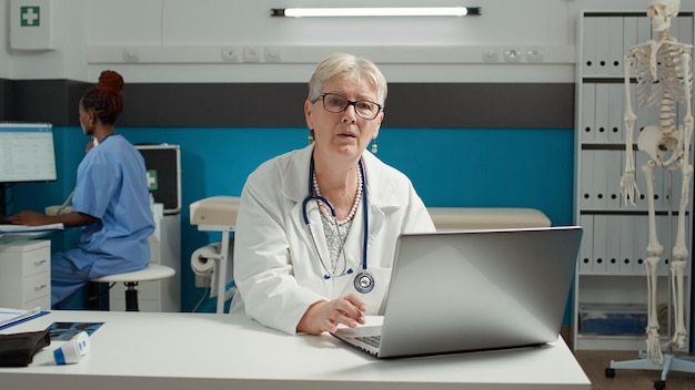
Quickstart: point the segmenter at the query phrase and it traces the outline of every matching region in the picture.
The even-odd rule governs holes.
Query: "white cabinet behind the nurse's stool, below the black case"
[[[181,311],[181,214],[162,215],[162,204],[153,207],[155,228],[150,236],[151,263],[169,266],[177,274],[171,278],[138,284],[140,311]],[[125,286],[117,284],[109,290],[109,309],[125,310]]]

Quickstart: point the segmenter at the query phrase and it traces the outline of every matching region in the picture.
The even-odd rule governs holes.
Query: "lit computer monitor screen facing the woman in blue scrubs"
[[[54,181],[50,123],[0,122],[0,183]]]

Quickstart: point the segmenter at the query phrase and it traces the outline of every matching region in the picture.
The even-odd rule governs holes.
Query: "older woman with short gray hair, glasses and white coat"
[[[396,238],[434,230],[410,179],[365,151],[385,99],[369,60],[316,66],[304,102],[313,144],[263,163],[242,191],[231,312],[319,335],[382,311]]]

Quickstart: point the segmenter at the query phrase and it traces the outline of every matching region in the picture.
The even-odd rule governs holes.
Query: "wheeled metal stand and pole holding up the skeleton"
[[[672,199],[672,191],[671,191],[671,179],[672,179],[672,171],[666,171],[668,174],[668,243],[673,243],[671,228],[673,226],[673,206],[671,203]],[[669,248],[672,246],[669,245]],[[671,249],[669,249],[669,256]],[[671,267],[668,268],[671,273]],[[673,290],[673,275],[671,275],[669,280],[669,290]],[[671,304],[672,300],[668,299],[668,324],[671,325]],[[669,327],[671,328],[671,327]],[[661,363],[654,361],[654,359],[649,358],[649,356],[645,351],[639,351],[639,359],[634,360],[623,360],[615,361],[611,360],[611,366],[606,368],[605,374],[607,378],[615,377],[615,369],[623,370],[655,370],[662,371],[661,379],[654,382],[654,389],[663,390],[666,388],[666,378],[668,377],[669,371],[679,371],[679,372],[692,372],[695,373],[695,357],[684,357],[684,356],[675,356],[673,353],[673,346],[668,345],[668,350],[663,357],[663,361]]]

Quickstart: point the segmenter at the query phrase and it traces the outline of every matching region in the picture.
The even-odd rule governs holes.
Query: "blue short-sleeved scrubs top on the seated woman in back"
[[[154,230],[144,160],[119,134],[107,136],[78,167],[75,212],[99,218],[82,227],[80,244],[64,255],[89,277],[138,270],[150,261]]]

